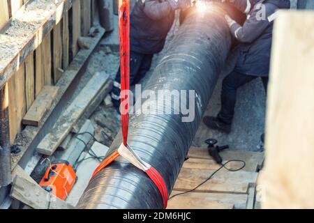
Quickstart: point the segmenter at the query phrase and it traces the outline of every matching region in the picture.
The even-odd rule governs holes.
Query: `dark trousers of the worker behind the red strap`
[[[139,54],[130,52],[130,85],[140,82],[146,75],[147,71],[151,68],[151,59],[153,54]],[[114,86],[112,88],[111,97],[114,107],[120,107],[120,68],[114,79]]]

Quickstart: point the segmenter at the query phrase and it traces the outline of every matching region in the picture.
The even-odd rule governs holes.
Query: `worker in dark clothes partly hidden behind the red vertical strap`
[[[174,22],[174,11],[186,9],[190,0],[137,0],[130,14],[130,85],[137,84],[151,67],[154,54],[165,45]],[[112,102],[119,111],[120,70],[112,89]]]

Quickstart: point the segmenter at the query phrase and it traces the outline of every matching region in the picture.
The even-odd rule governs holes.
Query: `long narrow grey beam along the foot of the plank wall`
[[[56,100],[52,103],[50,110],[43,118],[43,122],[45,125],[39,125],[38,127],[27,126],[22,134],[27,140],[22,140],[20,142],[21,152],[19,154],[11,155],[11,167],[12,169],[16,166],[18,162],[22,162],[24,157],[29,157],[36,150],[36,145],[43,139],[43,136],[47,134],[47,132],[52,128],[54,122],[59,116],[59,111],[63,108],[64,104],[66,104],[68,98],[70,98],[71,93],[74,91],[74,86],[76,86],[76,81],[84,72],[87,67],[87,62],[91,56],[91,53],[94,52],[96,46],[100,42],[101,38],[105,33],[105,29],[98,27],[99,33],[96,33],[96,36],[91,42],[91,49],[81,49],[78,52],[77,56],[70,63],[70,66],[67,70],[65,70],[61,79],[57,83],[56,86],[59,86],[59,93],[56,97]],[[51,118],[53,117],[53,118]],[[25,158],[27,159],[27,158]]]

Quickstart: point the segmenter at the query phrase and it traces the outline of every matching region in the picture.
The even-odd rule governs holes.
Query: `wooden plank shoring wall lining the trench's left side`
[[[0,47],[1,38],[15,20],[33,1],[0,1]],[[43,0],[44,1],[44,0]],[[59,0],[62,10],[56,8],[56,22],[45,23],[33,35],[34,38],[8,63],[1,61],[0,87],[8,83],[10,144],[22,130],[22,118],[31,107],[44,86],[58,82],[70,61],[78,52],[77,40],[86,36],[91,28],[96,0]],[[33,43],[36,42],[36,43]],[[29,47],[29,48],[27,48]]]

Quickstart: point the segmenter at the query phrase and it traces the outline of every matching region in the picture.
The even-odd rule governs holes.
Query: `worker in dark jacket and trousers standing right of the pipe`
[[[276,10],[290,8],[289,0],[225,0],[234,3],[247,14],[247,20],[240,26],[225,16],[232,36],[239,41],[239,57],[234,70],[223,79],[221,109],[218,116],[204,117],[204,124],[211,129],[231,132],[237,89],[257,77],[262,78],[267,91],[271,39]]]

